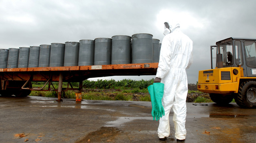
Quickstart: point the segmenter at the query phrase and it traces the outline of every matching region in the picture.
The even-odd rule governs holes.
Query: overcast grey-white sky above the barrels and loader
[[[0,49],[149,33],[163,39],[163,22],[179,21],[193,41],[188,83],[210,69],[210,45],[256,38],[256,0],[0,0]],[[103,79],[152,79],[155,76]]]

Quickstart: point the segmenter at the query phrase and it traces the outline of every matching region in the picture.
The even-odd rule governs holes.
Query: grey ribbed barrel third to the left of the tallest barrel
[[[94,65],[94,40],[79,41],[78,66]]]

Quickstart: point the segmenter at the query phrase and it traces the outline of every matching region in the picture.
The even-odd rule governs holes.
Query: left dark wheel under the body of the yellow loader
[[[233,94],[210,93],[209,95],[210,95],[210,98],[212,99],[213,102],[215,102],[217,104],[220,104],[220,105],[229,104],[234,99]]]

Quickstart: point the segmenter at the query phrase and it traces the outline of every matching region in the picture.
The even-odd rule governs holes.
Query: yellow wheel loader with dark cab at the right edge
[[[231,37],[210,49],[211,69],[199,71],[197,89],[217,104],[235,99],[242,108],[256,108],[256,39]]]

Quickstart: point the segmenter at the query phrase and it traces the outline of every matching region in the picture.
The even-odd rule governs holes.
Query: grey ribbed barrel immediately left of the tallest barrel
[[[111,64],[131,63],[132,37],[117,35],[112,37]]]

